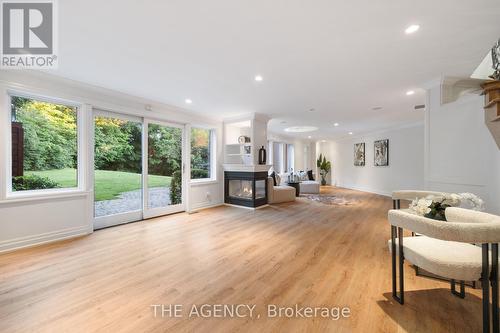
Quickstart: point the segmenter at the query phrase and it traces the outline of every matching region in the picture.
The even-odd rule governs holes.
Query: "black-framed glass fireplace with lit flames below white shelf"
[[[257,208],[267,204],[267,171],[225,171],[224,202]]]

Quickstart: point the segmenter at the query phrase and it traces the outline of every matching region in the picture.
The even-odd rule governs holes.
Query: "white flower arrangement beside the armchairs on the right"
[[[463,203],[468,203],[472,210],[484,210],[484,201],[472,193],[429,195],[413,200],[409,208],[417,215],[445,221],[446,208],[458,207]]]

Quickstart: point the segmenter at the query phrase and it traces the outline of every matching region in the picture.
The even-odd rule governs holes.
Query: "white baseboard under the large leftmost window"
[[[0,253],[91,234],[92,226],[68,228],[0,242]]]

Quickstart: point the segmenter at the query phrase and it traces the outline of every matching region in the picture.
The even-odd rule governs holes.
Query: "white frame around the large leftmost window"
[[[5,176],[6,176],[6,192],[5,199],[20,199],[20,198],[40,198],[40,197],[53,197],[62,194],[79,194],[85,192],[84,184],[84,104],[57,97],[49,97],[46,95],[39,95],[26,91],[19,91],[14,89],[7,89],[6,110],[7,110],[7,131],[5,137]],[[68,188],[54,188],[54,189],[40,189],[40,190],[27,190],[27,191],[13,191],[12,190],[12,97],[29,98],[39,102],[62,104],[76,109],[76,142],[77,142],[77,186]]]

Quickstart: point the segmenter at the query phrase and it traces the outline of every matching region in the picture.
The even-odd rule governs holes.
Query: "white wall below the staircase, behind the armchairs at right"
[[[464,95],[441,105],[441,88],[428,89],[426,175],[429,190],[472,192],[500,214],[500,150],[484,124],[484,99]]]

